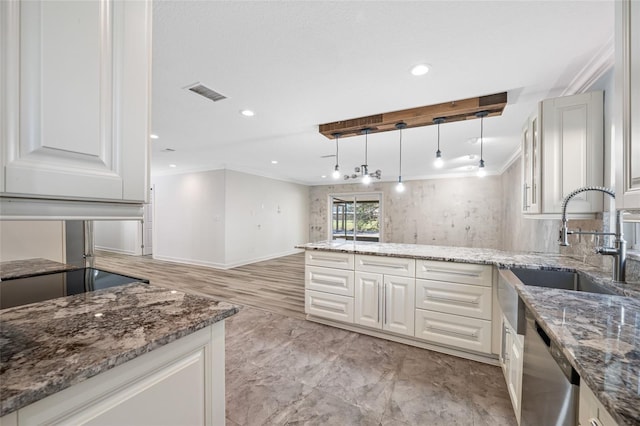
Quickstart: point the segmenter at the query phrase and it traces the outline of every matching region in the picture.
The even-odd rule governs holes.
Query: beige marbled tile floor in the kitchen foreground
[[[256,308],[226,327],[227,425],[516,425],[498,367]]]

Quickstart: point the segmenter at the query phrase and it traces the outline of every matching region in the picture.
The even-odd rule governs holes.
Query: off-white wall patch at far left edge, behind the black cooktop
[[[0,221],[0,262],[40,257],[65,262],[63,221]]]

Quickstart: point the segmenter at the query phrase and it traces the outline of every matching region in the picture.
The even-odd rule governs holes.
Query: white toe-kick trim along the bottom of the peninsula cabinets
[[[404,343],[405,345],[415,346],[422,349],[428,349],[434,352],[440,352],[447,355],[457,356],[458,358],[464,358],[471,361],[481,362],[483,364],[490,364],[495,366],[500,366],[500,362],[498,360],[497,355],[493,354],[479,354],[473,352],[466,352],[460,349],[450,348],[447,346],[435,345],[432,343],[427,343],[421,340],[412,339],[408,336],[400,336],[397,334],[388,334],[379,332],[376,330],[372,330],[369,328],[358,327],[351,324],[343,324],[337,321],[331,321],[324,318],[318,318],[313,315],[307,315],[308,321],[317,322],[319,324],[329,325],[332,327],[342,328],[343,330],[353,331],[355,333],[366,334],[368,336],[378,337],[380,339],[391,340],[397,343]]]

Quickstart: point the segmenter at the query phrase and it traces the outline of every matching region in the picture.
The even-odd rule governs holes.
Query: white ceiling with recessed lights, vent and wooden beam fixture
[[[536,103],[601,62],[612,36],[613,1],[159,0],[152,173],[226,167],[328,184],[335,142],[318,124],[506,91],[504,114],[484,125],[487,170],[499,173]],[[414,77],[421,62],[431,71]],[[228,99],[184,90],[196,82]],[[405,130],[403,179],[473,173],[479,132],[478,120],[443,124],[436,170],[436,127]],[[340,141],[341,170],[363,159],[363,137]],[[397,179],[397,132],[369,136],[368,163]]]

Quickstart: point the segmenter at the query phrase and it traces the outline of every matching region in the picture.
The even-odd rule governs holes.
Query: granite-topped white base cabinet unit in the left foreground
[[[144,283],[4,309],[2,425],[224,424],[224,319],[237,312]]]

